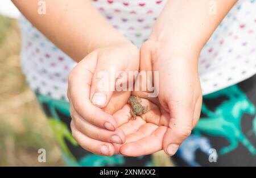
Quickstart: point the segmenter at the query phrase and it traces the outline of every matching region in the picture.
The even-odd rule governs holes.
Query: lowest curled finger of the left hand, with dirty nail
[[[77,130],[73,121],[71,121],[71,130],[72,136],[77,141],[77,143],[79,143],[82,148],[92,152],[93,154],[102,156],[112,156],[116,152],[118,152],[118,150],[116,150],[113,144],[101,142],[99,140],[89,138],[88,136],[82,134],[79,130]]]

